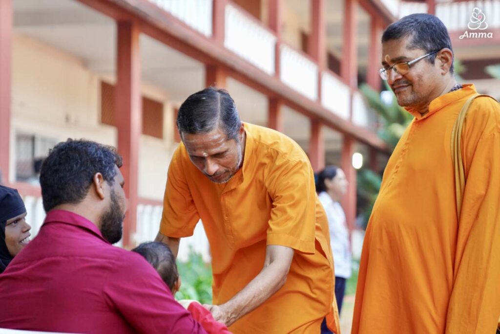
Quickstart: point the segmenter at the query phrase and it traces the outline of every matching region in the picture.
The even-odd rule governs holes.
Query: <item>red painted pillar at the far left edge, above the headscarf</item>
[[[0,182],[9,182],[12,0],[0,1]]]

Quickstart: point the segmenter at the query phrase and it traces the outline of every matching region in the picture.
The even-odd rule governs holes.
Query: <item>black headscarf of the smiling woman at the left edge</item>
[[[26,212],[24,202],[17,190],[0,185],[0,273],[12,260],[5,243],[7,220]]]

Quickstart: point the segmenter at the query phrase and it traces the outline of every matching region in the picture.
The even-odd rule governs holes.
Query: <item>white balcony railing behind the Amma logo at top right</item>
[[[500,0],[440,3],[436,4],[436,16],[449,32],[464,32],[467,30],[474,8],[478,8],[484,14],[488,31],[500,28]]]

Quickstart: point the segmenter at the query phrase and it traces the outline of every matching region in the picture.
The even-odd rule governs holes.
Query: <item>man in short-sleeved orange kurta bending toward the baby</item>
[[[177,126],[156,240],[176,255],[201,219],[214,318],[233,333],[317,334],[325,321],[338,334],[328,221],[300,146],[242,123],[213,87],[187,98]]]

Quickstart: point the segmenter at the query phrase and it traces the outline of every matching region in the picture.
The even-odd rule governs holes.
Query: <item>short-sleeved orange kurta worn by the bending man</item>
[[[214,304],[229,300],[260,272],[266,245],[295,250],[283,287],[230,326],[232,332],[315,334],[327,313],[338,328],[328,223],[309,160],[279,132],[244,128],[243,166],[225,184],[212,183],[179,145],[168,169],[160,232],[190,236],[201,218],[212,255]]]

